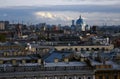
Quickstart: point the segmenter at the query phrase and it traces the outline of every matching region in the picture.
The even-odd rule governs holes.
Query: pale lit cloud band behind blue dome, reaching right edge
[[[77,20],[80,15],[88,25],[119,25],[119,13],[99,13],[99,12],[74,12],[74,11],[52,11],[52,12],[35,12],[38,21],[50,24],[71,25],[71,20]],[[106,15],[107,14],[107,15]]]

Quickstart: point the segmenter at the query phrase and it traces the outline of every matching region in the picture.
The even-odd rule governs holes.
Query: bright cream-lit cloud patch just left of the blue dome
[[[67,12],[68,13],[68,12]],[[47,24],[62,24],[69,25],[71,20],[74,18],[71,15],[67,15],[67,13],[61,13],[57,11],[37,11],[34,12],[34,16],[36,17],[36,22],[46,22]]]

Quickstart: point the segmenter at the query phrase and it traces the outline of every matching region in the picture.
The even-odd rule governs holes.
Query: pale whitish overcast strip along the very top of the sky
[[[43,5],[119,5],[120,0],[0,0],[0,7]]]

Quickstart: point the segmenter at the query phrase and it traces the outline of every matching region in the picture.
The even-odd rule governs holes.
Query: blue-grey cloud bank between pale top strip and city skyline
[[[88,25],[120,24],[120,6],[57,5],[50,7],[0,8],[0,20],[71,25],[82,15]],[[7,16],[7,17],[5,17]]]

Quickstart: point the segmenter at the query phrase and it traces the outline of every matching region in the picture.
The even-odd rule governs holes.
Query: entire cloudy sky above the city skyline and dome
[[[71,25],[120,25],[120,0],[0,0],[0,20]]]

